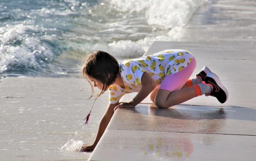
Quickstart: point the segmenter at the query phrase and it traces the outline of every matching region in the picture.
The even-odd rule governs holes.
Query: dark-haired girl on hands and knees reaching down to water
[[[101,89],[99,96],[108,90],[109,104],[93,144],[82,145],[80,151],[95,148],[116,109],[134,108],[148,95],[158,108],[169,108],[201,95],[214,96],[220,103],[226,102],[227,89],[207,67],[189,79],[195,67],[195,57],[186,50],[163,50],[150,56],[124,60],[120,64],[104,51],[89,55],[82,72],[92,87],[91,97],[93,87]],[[119,102],[122,96],[132,92],[138,94],[130,102]]]

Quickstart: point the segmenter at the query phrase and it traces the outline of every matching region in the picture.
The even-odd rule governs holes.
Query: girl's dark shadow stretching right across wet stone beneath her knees
[[[235,119],[256,121],[256,109],[244,107],[215,107],[177,105],[169,109],[158,109],[154,104],[139,105],[136,112],[151,116],[169,117],[175,119]]]

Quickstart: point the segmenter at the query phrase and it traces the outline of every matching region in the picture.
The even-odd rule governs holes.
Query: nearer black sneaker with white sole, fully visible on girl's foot
[[[216,97],[221,104],[228,100],[228,90],[221,84],[216,74],[209,72],[203,83],[212,87],[212,91],[205,96]]]

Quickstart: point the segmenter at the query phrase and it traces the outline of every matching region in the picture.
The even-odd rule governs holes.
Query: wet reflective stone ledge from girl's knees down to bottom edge
[[[253,161],[256,110],[223,109],[118,109],[89,160]]]

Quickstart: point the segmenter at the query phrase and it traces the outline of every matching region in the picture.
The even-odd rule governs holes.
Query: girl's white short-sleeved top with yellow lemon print
[[[126,93],[139,92],[144,72],[147,72],[156,84],[161,84],[166,75],[180,72],[188,66],[192,58],[193,55],[186,50],[163,50],[150,56],[122,61],[119,69],[125,88],[111,85],[108,88],[109,103],[117,103]]]

